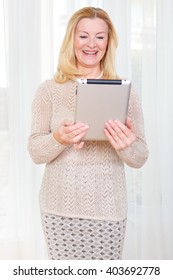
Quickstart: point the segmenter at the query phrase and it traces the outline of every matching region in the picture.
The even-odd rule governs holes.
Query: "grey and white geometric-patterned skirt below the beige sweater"
[[[99,221],[42,213],[42,226],[52,260],[118,260],[126,220]]]

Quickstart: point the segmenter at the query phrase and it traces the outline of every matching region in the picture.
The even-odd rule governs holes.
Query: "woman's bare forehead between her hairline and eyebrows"
[[[83,18],[76,25],[76,32],[108,32],[107,23],[101,18]]]

